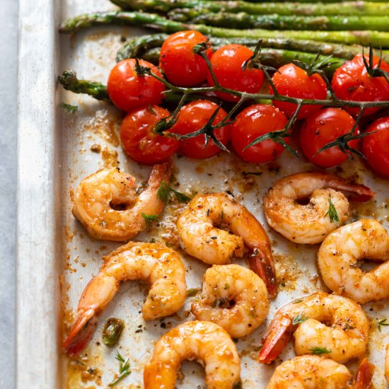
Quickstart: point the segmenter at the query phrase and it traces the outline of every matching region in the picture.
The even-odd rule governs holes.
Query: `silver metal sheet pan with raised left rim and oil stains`
[[[56,88],[56,76],[63,69],[76,69],[79,76],[105,82],[121,37],[140,34],[132,28],[93,29],[76,37],[59,37],[57,25],[67,16],[113,8],[105,0],[20,1],[19,112],[18,112],[18,263],[17,263],[17,385],[18,388],[106,387],[115,376],[117,349],[129,356],[132,373],[117,388],[142,387],[144,363],[149,359],[153,341],[170,326],[187,318],[185,307],[172,318],[144,322],[139,310],[144,287],[137,282],[124,284],[103,315],[93,342],[78,361],[62,355],[63,321],[69,323],[81,291],[98,272],[101,257],[120,244],[89,238],[71,215],[69,192],[79,181],[103,166],[119,163],[141,182],[150,168],[127,158],[117,130],[120,112],[104,103]],[[60,102],[79,105],[75,115],[62,112]],[[91,146],[98,144],[100,153]],[[209,161],[194,162],[175,158],[175,180],[181,190],[216,192],[230,190],[236,198],[264,223],[272,239],[277,271],[281,279],[279,296],[272,302],[267,322],[237,343],[241,356],[244,389],[262,388],[274,366],[255,361],[257,345],[274,310],[282,304],[315,290],[325,290],[315,262],[318,249],[294,245],[274,233],[262,214],[261,198],[274,180],[290,173],[312,168],[310,164],[284,155],[269,166],[250,166],[236,156],[223,154]],[[261,171],[248,177],[243,172]],[[376,199],[354,213],[376,217],[388,228],[388,184],[373,178],[359,161],[349,161],[339,175],[357,178],[373,187]],[[174,222],[179,207],[168,207],[160,228],[141,233],[137,240],[151,237],[177,246]],[[199,287],[205,265],[180,252],[187,267],[188,287]],[[243,261],[236,261],[244,265]],[[374,383],[383,388],[383,355],[387,330],[378,332],[377,321],[389,317],[386,303],[364,306],[371,318],[370,360],[376,364]],[[115,315],[126,322],[120,346],[108,349],[100,344],[101,327]],[[163,324],[162,324],[163,323]],[[87,355],[86,355],[87,354]],[[281,360],[294,356],[292,345]],[[80,368],[80,366],[83,366]],[[87,367],[95,373],[86,374]],[[351,368],[355,366],[350,365]],[[194,363],[182,367],[181,388],[204,387],[202,368]],[[90,379],[89,379],[90,378]]]

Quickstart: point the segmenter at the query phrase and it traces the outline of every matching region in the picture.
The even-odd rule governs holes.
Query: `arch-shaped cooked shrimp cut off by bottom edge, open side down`
[[[185,359],[205,365],[208,389],[232,389],[240,381],[239,356],[231,337],[217,324],[196,320],[158,339],[144,368],[144,389],[174,389],[177,369]]]

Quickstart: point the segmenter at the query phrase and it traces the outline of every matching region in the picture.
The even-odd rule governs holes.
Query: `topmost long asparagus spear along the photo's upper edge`
[[[210,12],[247,12],[250,15],[349,15],[385,16],[389,15],[388,2],[343,1],[334,3],[261,2],[248,1],[210,1],[210,0],[110,0],[113,4],[128,11],[166,13],[175,8],[207,8]]]

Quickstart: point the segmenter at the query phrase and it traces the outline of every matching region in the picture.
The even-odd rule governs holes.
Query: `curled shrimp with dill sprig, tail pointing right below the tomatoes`
[[[342,192],[351,192],[354,199],[366,201],[374,192],[335,175],[297,173],[275,182],[263,197],[267,222],[285,238],[296,243],[313,245],[338,227],[330,219],[330,202],[336,209],[339,225],[349,217],[349,202]],[[298,200],[310,197],[306,205]]]

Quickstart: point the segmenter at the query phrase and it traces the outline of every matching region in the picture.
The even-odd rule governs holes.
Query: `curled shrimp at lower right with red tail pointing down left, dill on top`
[[[259,360],[272,362],[294,333],[298,355],[322,353],[342,364],[364,354],[368,331],[368,319],[359,304],[318,292],[292,301],[275,313]]]

